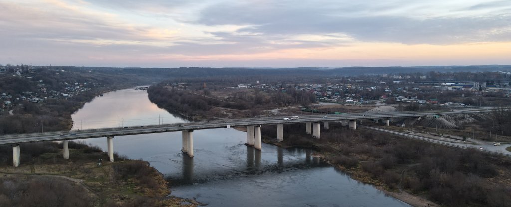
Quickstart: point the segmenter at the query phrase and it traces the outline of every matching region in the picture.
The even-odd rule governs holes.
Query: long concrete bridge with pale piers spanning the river
[[[127,135],[141,135],[152,133],[181,132],[183,153],[187,153],[189,157],[193,157],[193,132],[195,130],[206,130],[211,128],[230,128],[230,127],[246,127],[247,137],[246,145],[253,146],[255,149],[262,149],[261,127],[264,125],[277,125],[277,140],[284,140],[284,124],[306,124],[306,133],[312,134],[316,139],[321,138],[320,123],[323,123],[324,130],[329,129],[329,122],[337,121],[343,125],[349,125],[353,130],[357,129],[357,121],[362,120],[382,120],[388,126],[391,118],[413,118],[431,115],[448,115],[448,114],[473,114],[487,113],[489,109],[481,111],[458,110],[458,111],[437,111],[437,112],[401,112],[386,114],[344,114],[344,115],[309,115],[300,116],[299,119],[285,119],[284,117],[265,117],[265,118],[249,118],[221,121],[202,121],[178,124],[161,124],[161,125],[145,125],[137,127],[115,127],[115,128],[98,128],[93,130],[79,131],[61,131],[34,134],[16,134],[0,136],[0,145],[13,146],[13,164],[19,166],[20,163],[20,144],[47,142],[47,141],[63,141],[63,157],[69,159],[69,140],[90,139],[106,137],[108,143],[108,157],[113,162],[113,138]]]

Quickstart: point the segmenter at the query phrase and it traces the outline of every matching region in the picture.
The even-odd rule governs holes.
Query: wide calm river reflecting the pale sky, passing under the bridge
[[[74,130],[137,127],[187,122],[158,109],[147,91],[105,93],[73,115]],[[200,130],[194,158],[181,153],[181,133],[115,137],[114,151],[149,161],[170,182],[171,195],[195,198],[207,206],[410,206],[372,185],[350,178],[311,156],[314,151],[264,144],[244,145],[244,132]],[[106,138],[84,140],[106,149]]]

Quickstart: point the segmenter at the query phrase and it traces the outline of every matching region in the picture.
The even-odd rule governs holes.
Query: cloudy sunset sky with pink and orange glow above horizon
[[[0,0],[0,63],[511,64],[511,1]]]

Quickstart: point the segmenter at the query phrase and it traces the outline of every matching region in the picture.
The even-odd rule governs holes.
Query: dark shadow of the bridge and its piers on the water
[[[181,154],[182,170],[179,175],[168,175],[168,179],[172,186],[191,185],[198,183],[208,183],[217,180],[228,180],[253,175],[271,175],[286,173],[295,170],[307,170],[311,168],[332,167],[330,164],[322,161],[320,158],[313,157],[311,149],[300,148],[282,148],[276,149],[276,163],[273,161],[263,160],[262,153],[264,151],[254,149],[253,147],[246,147],[246,160],[237,163],[235,166],[227,166],[227,168],[215,169],[210,171],[200,171],[195,173],[194,170],[201,168],[201,166],[194,165],[194,158]],[[289,159],[285,161],[285,153],[305,155],[301,159]],[[195,158],[197,159],[197,158]],[[212,164],[216,165],[216,164]]]

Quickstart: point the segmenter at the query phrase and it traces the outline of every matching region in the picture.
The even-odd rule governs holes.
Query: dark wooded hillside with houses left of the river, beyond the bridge
[[[149,79],[143,79],[132,74],[65,70],[64,68],[66,67],[55,70],[38,67],[31,72],[24,70],[22,75],[32,76],[32,79],[10,73],[0,74],[0,93],[6,92],[13,96],[10,99],[12,100],[11,106],[5,109],[3,116],[0,116],[0,135],[70,130],[72,126],[71,115],[97,94],[109,89],[150,83]],[[38,86],[40,84],[39,80],[42,80],[42,84],[44,84],[44,88],[47,88],[48,93],[44,93],[41,87]],[[84,87],[92,89],[81,91],[71,98],[49,97],[53,95],[50,90],[64,93],[66,92],[65,87],[75,87],[75,82],[80,84],[87,82]],[[95,86],[92,83],[99,83],[99,85]],[[47,98],[39,104],[22,99],[18,100],[21,95],[24,95],[25,91],[37,93],[41,98]],[[0,104],[3,104],[3,101],[7,99],[0,100],[2,101]],[[14,115],[9,115],[9,110],[14,110]]]

